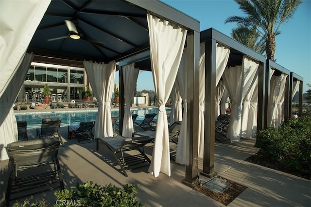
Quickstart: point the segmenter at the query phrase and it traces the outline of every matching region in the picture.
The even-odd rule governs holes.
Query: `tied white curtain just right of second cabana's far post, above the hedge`
[[[281,105],[284,101],[284,90],[287,76],[288,75],[282,73],[281,75],[275,75],[271,78],[268,121],[269,124],[274,127],[278,127],[282,122]]]

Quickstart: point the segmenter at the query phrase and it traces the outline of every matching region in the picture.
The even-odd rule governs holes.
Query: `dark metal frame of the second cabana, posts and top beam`
[[[204,158],[202,175],[207,177],[216,176],[214,172],[214,153],[215,153],[215,94],[216,94],[216,43],[220,43],[230,49],[245,54],[259,62],[259,99],[258,99],[258,128],[263,129],[262,118],[264,114],[266,94],[261,90],[266,83],[266,71],[264,70],[265,57],[247,48],[236,40],[216,31],[213,28],[201,32],[201,42],[206,43],[205,56],[205,133],[204,133]],[[211,55],[207,55],[211,54]],[[195,165],[195,164],[193,164]]]

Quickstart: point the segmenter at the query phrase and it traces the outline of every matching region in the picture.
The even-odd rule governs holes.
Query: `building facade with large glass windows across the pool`
[[[82,89],[88,85],[84,68],[33,62],[27,72],[17,102],[43,102],[42,90],[48,84],[51,101],[82,100]]]

